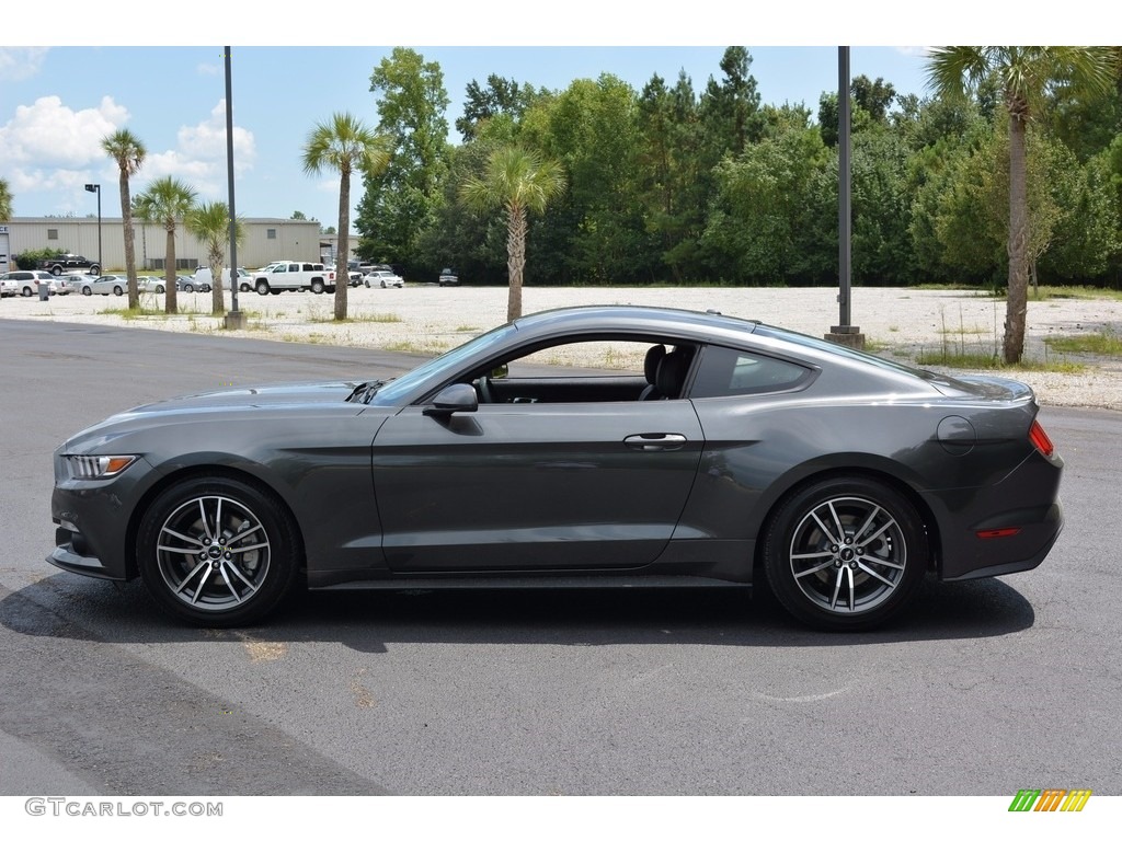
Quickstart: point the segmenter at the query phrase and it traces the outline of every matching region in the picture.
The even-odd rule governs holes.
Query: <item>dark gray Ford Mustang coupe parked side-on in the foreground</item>
[[[1040,564],[1063,461],[1037,410],[716,313],[558,309],[386,382],[114,415],[54,454],[48,560],[212,627],[303,586],[766,579],[799,620],[866,629],[928,573]]]

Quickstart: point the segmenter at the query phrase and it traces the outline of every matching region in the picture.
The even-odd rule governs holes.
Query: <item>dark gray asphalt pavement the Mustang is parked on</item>
[[[0,357],[0,794],[1122,794],[1118,413],[1042,413],[1067,462],[1042,566],[929,583],[872,634],[705,590],[321,593],[204,631],[44,561],[52,450],[184,391],[415,360],[34,321]]]

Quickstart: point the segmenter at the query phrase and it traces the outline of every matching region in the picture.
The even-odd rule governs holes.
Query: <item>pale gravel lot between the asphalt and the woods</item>
[[[726,315],[758,318],[771,324],[821,335],[838,322],[836,290],[746,288],[526,288],[523,312],[533,313],[581,304],[645,304],[684,309],[719,309]],[[154,330],[211,333],[224,330],[210,315],[209,294],[180,294],[176,316],[162,312],[125,317],[126,299],[55,296],[4,298],[2,318],[50,318],[62,322],[110,324]],[[229,301],[229,295],[227,296]],[[284,293],[259,296],[241,293],[239,308],[249,322],[245,335],[278,341],[346,344],[408,353],[435,354],[505,321],[507,290],[502,287],[441,288],[411,285],[404,289],[349,290],[344,323],[333,321],[330,295]],[[163,296],[142,296],[144,306],[163,309]],[[853,322],[871,349],[891,359],[910,361],[922,351],[992,353],[1000,345],[1004,302],[972,292],[858,288],[853,295]],[[1122,303],[1064,299],[1029,303],[1027,355],[1045,359],[1045,338],[1122,333]],[[1055,358],[1055,353],[1048,353]],[[1068,355],[1087,366],[1080,373],[1018,372],[1041,404],[1093,406],[1122,410],[1122,360]],[[591,364],[597,360],[572,359]],[[599,360],[603,361],[603,360]]]

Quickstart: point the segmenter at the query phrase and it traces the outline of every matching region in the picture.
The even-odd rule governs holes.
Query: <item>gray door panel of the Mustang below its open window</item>
[[[689,400],[411,406],[374,441],[396,572],[636,569],[665,547],[702,449]]]

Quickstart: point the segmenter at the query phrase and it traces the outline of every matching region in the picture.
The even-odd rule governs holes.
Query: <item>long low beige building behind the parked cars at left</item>
[[[245,241],[238,243],[238,264],[246,268],[273,260],[334,262],[337,237],[320,234],[320,223],[301,219],[242,219]],[[100,228],[100,235],[99,235]],[[163,271],[167,256],[167,231],[160,224],[132,220],[137,270]],[[352,237],[351,246],[358,244]],[[125,225],[119,218],[24,216],[0,224],[0,272],[16,269],[24,251],[57,249],[99,261],[103,271],[125,270]],[[348,249],[351,250],[351,249]],[[206,265],[206,248],[180,223],[175,231],[178,271]]]

